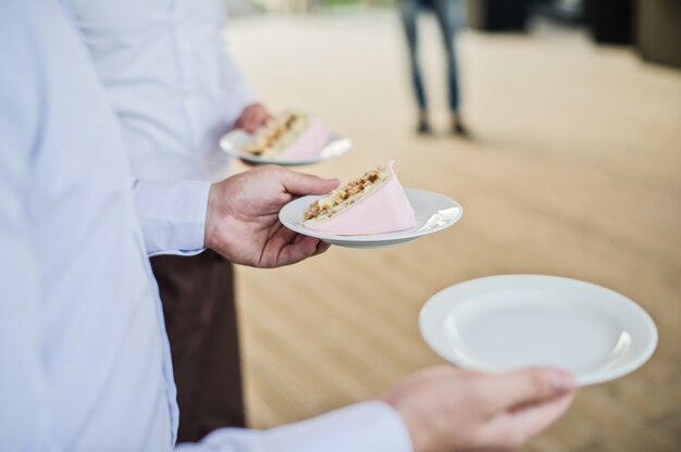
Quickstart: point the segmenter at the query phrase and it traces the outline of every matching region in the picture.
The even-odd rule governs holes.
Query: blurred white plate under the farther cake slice
[[[220,148],[227,154],[237,159],[245,160],[256,165],[275,164],[281,166],[309,165],[312,163],[323,162],[324,160],[334,159],[347,153],[352,149],[352,141],[348,138],[336,134],[331,134],[329,142],[319,152],[319,154],[307,159],[272,159],[251,155],[244,152],[244,148],[253,139],[252,134],[244,130],[232,130],[220,139]]]

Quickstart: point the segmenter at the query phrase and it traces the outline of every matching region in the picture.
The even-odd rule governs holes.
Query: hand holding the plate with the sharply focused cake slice
[[[337,179],[261,166],[213,184],[208,196],[206,246],[227,260],[257,267],[294,264],[329,244],[285,228],[278,211],[306,194],[327,193]]]

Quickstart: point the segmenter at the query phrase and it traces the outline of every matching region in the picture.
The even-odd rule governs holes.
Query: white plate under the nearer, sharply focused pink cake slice
[[[326,243],[348,248],[384,248],[406,243],[419,237],[448,228],[458,222],[463,213],[458,202],[443,194],[414,188],[406,188],[405,191],[409,203],[413,208],[417,226],[398,233],[336,236],[308,229],[301,224],[305,211],[310,206],[310,203],[322,198],[321,196],[308,196],[289,202],[281,210],[278,217],[287,228],[298,234],[317,237]],[[437,216],[437,213],[443,211],[446,214],[443,214],[441,218]]]

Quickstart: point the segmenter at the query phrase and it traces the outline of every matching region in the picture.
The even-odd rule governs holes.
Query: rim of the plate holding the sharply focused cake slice
[[[447,221],[447,223],[445,225],[442,226],[436,226],[436,227],[432,227],[425,230],[419,230],[419,229],[406,229],[404,231],[395,231],[395,233],[386,233],[386,234],[374,234],[374,235],[358,235],[358,236],[338,236],[338,235],[333,235],[333,234],[324,234],[324,233],[318,233],[315,230],[306,228],[305,226],[301,225],[297,225],[297,224],[290,224],[289,222],[285,222],[283,218],[284,215],[284,211],[286,209],[292,209],[293,204],[297,204],[297,203],[302,203],[304,201],[306,203],[311,203],[312,201],[320,199],[322,197],[324,197],[324,194],[308,194],[301,198],[297,198],[290,202],[288,202],[286,205],[284,205],[278,213],[278,219],[280,222],[284,225],[284,227],[305,235],[305,236],[309,236],[309,237],[314,237],[317,239],[320,240],[332,240],[334,241],[334,244],[336,246],[342,246],[339,243],[354,243],[356,247],[354,248],[358,248],[357,244],[359,243],[363,243],[367,246],[367,248],[370,247],[370,243],[383,243],[383,242],[391,242],[391,241],[411,241],[414,239],[418,239],[419,237],[423,237],[426,236],[429,234],[433,234],[433,233],[437,233],[441,230],[444,230],[450,226],[454,226],[456,223],[459,222],[459,219],[461,219],[461,217],[463,216],[463,208],[461,206],[461,204],[459,204],[459,202],[457,202],[456,200],[449,198],[446,194],[442,194],[435,191],[430,191],[430,190],[423,190],[423,189],[419,189],[419,188],[410,188],[410,187],[405,187],[405,192],[407,193],[407,197],[409,198],[409,194],[428,194],[428,196],[436,196],[436,197],[441,197],[446,199],[447,201],[453,203],[453,206],[458,208],[459,212],[457,214],[456,217]],[[393,236],[387,236],[387,234],[392,234]],[[397,236],[394,236],[395,234],[397,234]],[[395,244],[399,244],[399,243],[395,243]]]

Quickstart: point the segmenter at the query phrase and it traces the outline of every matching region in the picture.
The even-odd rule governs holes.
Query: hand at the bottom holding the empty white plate
[[[439,366],[381,399],[405,420],[414,452],[491,452],[520,448],[567,411],[575,391],[559,369],[495,375]]]

